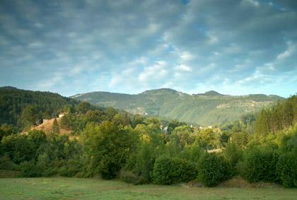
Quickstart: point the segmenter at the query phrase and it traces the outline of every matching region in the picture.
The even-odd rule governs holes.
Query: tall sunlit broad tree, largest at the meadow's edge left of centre
[[[134,146],[129,131],[107,121],[98,126],[87,125],[81,138],[90,161],[91,176],[99,173],[104,179],[112,179],[117,175]]]

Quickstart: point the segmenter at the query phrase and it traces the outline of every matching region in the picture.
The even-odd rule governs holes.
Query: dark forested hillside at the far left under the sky
[[[78,105],[76,100],[57,93],[0,88],[0,124],[30,127],[41,119],[56,117],[64,107]],[[39,124],[37,122],[36,124]]]

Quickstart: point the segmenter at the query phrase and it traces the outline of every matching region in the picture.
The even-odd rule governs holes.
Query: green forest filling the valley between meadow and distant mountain
[[[23,100],[19,95],[16,102]],[[1,116],[0,170],[18,171],[21,177],[102,177],[132,184],[195,181],[206,187],[239,176],[297,187],[296,95],[211,128],[57,99],[42,99],[45,105],[24,100],[12,104],[14,112],[5,112],[1,97],[1,111],[10,117]],[[51,133],[30,129],[40,123],[40,114],[42,119],[59,112],[66,114]],[[76,137],[60,134],[61,127],[72,129]]]

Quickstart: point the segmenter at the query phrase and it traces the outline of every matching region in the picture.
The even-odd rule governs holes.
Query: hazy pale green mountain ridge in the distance
[[[148,114],[183,122],[211,125],[239,119],[273,102],[284,100],[276,95],[222,95],[216,91],[190,95],[169,88],[146,90],[136,95],[93,92],[71,98],[93,105],[111,106],[134,114]]]

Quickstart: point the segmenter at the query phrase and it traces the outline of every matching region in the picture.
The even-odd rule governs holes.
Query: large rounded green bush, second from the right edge
[[[240,175],[249,182],[276,182],[278,159],[278,154],[270,149],[247,149],[240,163]]]

